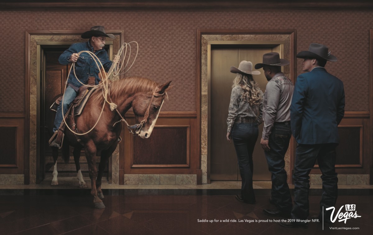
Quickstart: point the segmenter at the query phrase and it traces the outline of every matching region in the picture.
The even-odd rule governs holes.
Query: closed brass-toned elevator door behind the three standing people
[[[242,60],[251,61],[253,70],[255,64],[262,63],[263,54],[277,51],[278,47],[211,48],[211,80],[210,80],[210,179],[211,180],[241,180],[233,142],[226,140],[228,107],[231,99],[233,79],[236,74],[230,72],[230,67],[238,67]],[[263,69],[260,75],[253,75],[260,89],[266,89],[267,79]],[[259,136],[253,153],[253,180],[271,180],[267,161],[260,145],[263,123],[259,125]]]

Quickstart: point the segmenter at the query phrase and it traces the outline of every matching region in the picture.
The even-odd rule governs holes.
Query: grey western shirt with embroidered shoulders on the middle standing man
[[[267,140],[273,123],[290,121],[290,105],[294,85],[283,73],[276,73],[267,83],[263,98],[263,133]]]

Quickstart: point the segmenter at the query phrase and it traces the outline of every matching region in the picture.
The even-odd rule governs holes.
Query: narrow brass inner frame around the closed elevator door
[[[259,46],[261,48],[277,48],[280,51],[280,58],[284,57],[284,44],[285,41],[209,41],[207,44],[207,164],[208,169],[211,169],[211,50],[214,47],[229,48],[229,47],[254,47]],[[253,65],[254,66],[254,65]],[[253,68],[254,69],[254,68]],[[264,92],[264,91],[263,91]],[[225,123],[223,123],[225,124]],[[259,133],[258,138],[261,138]],[[266,161],[263,159],[263,161]],[[211,172],[208,171],[208,181],[210,181]],[[238,171],[239,180],[239,171]]]

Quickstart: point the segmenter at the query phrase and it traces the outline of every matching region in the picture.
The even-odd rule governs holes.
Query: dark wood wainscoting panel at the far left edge
[[[23,174],[24,120],[0,120],[0,174]]]

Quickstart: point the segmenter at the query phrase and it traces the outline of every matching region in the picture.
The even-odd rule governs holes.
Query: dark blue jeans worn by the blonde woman
[[[255,201],[253,190],[253,152],[258,139],[258,132],[257,123],[235,123],[231,133],[242,179],[241,197],[250,202]]]

